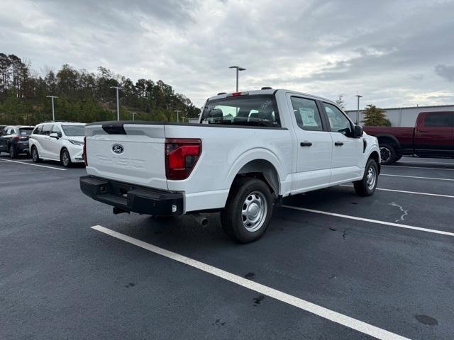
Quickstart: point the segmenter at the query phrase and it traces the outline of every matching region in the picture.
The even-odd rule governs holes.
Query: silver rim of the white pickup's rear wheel
[[[254,191],[246,196],[241,209],[243,227],[248,232],[255,232],[260,229],[267,217],[267,201],[260,191]]]

